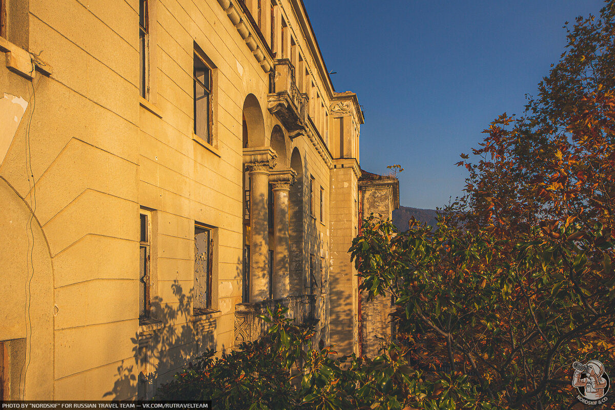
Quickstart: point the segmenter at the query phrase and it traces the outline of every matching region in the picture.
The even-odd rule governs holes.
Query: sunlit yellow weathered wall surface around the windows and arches
[[[253,49],[256,33],[242,34],[225,1],[148,3],[147,99],[140,97],[137,0],[30,0],[14,22],[25,31],[0,38],[0,57],[10,52],[10,69],[0,67],[0,261],[10,267],[0,290],[0,342],[28,342],[22,398],[135,398],[143,390],[139,373],[156,376],[141,392],[151,395],[197,352],[231,349],[236,339],[244,101],[254,101],[261,117],[252,140],[269,146],[274,127],[284,128],[268,110],[264,68],[272,54],[264,44]],[[296,150],[303,178],[290,198],[292,293],[317,297],[316,339],[328,343],[335,333],[352,352],[357,285],[347,249],[356,234],[358,167],[347,159],[346,168],[331,170],[328,128],[332,112],[343,109],[352,138],[346,146],[358,156],[362,113],[354,94],[333,91],[313,39],[304,37],[313,33],[302,28],[301,3],[281,0],[275,13],[278,31],[268,47],[293,60],[310,100],[305,132],[290,138],[284,129],[284,148],[276,146],[285,151],[278,167],[290,167]],[[245,15],[242,21],[249,23]],[[267,24],[263,30],[271,42]],[[214,71],[211,143],[192,132],[195,45]],[[148,321],[140,321],[138,306],[140,211],[151,219]],[[195,223],[210,227],[213,239],[212,309],[203,314],[192,301]],[[311,256],[317,280],[309,290]]]

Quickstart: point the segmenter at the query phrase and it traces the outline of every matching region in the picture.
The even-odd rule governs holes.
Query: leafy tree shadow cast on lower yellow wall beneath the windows
[[[140,331],[131,337],[133,364],[117,367],[113,388],[103,397],[109,400],[150,399],[157,385],[169,381],[198,355],[215,349],[216,319],[194,315],[192,294],[186,294],[178,282],[171,285],[177,302],[152,301],[153,316],[141,322]]]

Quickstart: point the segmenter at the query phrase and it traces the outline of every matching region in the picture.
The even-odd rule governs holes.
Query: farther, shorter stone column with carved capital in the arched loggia
[[[296,172],[292,169],[271,172],[274,206],[273,298],[290,295],[290,242],[288,239],[288,192]]]

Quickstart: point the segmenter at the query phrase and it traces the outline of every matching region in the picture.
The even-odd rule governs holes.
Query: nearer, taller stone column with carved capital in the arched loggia
[[[250,172],[250,302],[269,298],[269,172],[276,165],[269,147],[244,149]]]

